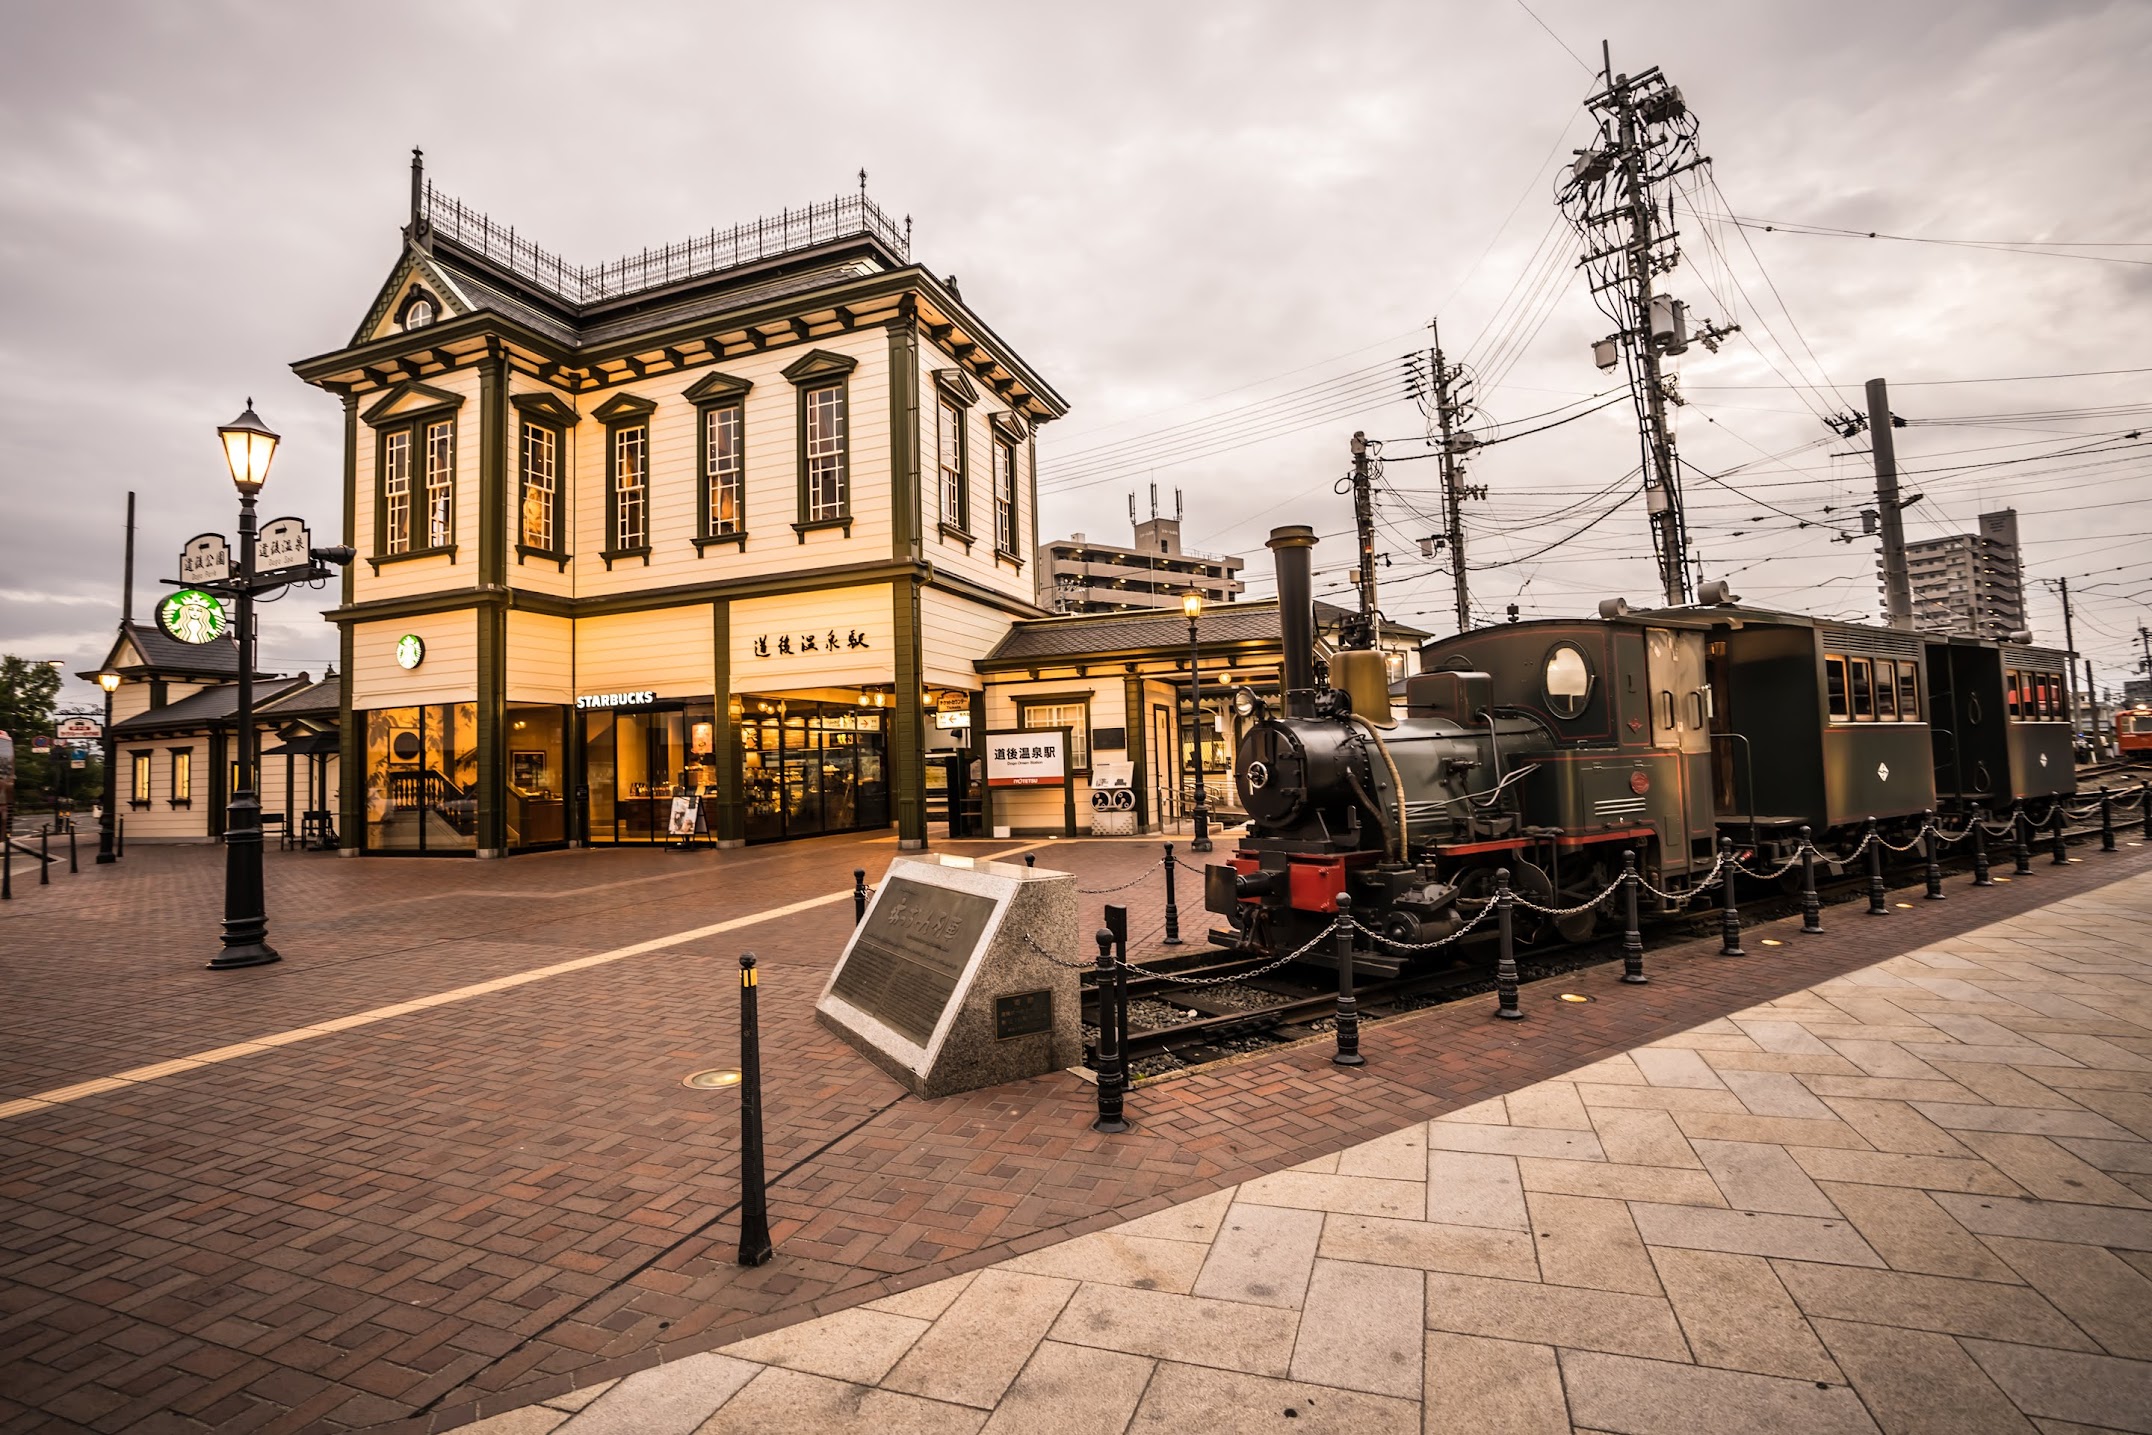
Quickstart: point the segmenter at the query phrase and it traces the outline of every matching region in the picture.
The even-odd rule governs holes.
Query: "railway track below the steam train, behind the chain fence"
[[[2064,828],[2064,839],[2070,843],[2096,841],[2098,835],[2100,828],[2096,822],[2090,826]],[[2137,841],[2135,837],[2130,839]],[[2040,833],[2040,841],[2034,846],[2031,858],[2036,867],[2053,863],[2049,856],[2051,841],[2053,837],[2049,833]],[[1991,843],[1988,854],[1997,876],[2010,876],[2008,843]],[[1973,867],[1969,852],[1952,852],[1941,858],[1939,865],[1945,873],[1969,873]],[[1885,882],[1892,891],[1920,886],[1922,880],[1924,873],[1920,863],[1885,871]],[[1866,891],[1868,878],[1859,871],[1838,878],[1818,878],[1816,882],[1816,893],[1825,906],[1864,901]],[[1801,904],[1799,893],[1771,889],[1739,901],[1737,908],[1743,925],[1752,925],[1758,921],[1778,921],[1782,917],[1799,914]],[[1646,936],[1655,932],[1661,940],[1668,936],[1689,940],[1717,934],[1717,925],[1719,908],[1704,906],[1681,917],[1657,921],[1646,919]],[[1227,938],[1227,934],[1218,932],[1218,938]],[[1388,1015],[1491,992],[1493,944],[1496,936],[1491,932],[1472,934],[1457,944],[1459,957],[1446,968],[1356,983],[1354,994],[1360,1009],[1360,1022],[1367,1024]],[[1556,977],[1588,966],[1603,966],[1618,960],[1618,934],[1592,938],[1590,942],[1543,944],[1517,951],[1521,981],[1539,981],[1543,977]],[[1164,975],[1149,975],[1143,970],[1130,972],[1130,1026],[1125,1054],[1132,1076],[1136,1080],[1164,1076],[1175,1069],[1240,1056],[1265,1046],[1285,1046],[1289,1041],[1328,1031],[1330,1018],[1336,1013],[1334,972],[1326,966],[1293,964],[1276,972],[1250,977],[1248,981],[1231,981],[1235,972],[1252,972],[1268,962],[1268,955],[1227,955],[1209,962],[1201,955],[1181,955],[1143,964],[1149,972],[1171,972],[1173,977],[1184,979],[1229,979],[1216,985],[1197,988],[1169,981]],[[1188,1015],[1160,1020],[1160,1009]],[[1098,994],[1089,977],[1082,988],[1082,1022],[1087,1028],[1085,1065],[1091,1065],[1098,1031]]]

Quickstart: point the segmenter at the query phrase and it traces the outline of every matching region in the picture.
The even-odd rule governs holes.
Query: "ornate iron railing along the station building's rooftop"
[[[486,258],[544,293],[585,306],[620,299],[646,288],[682,280],[699,280],[762,258],[811,250],[837,239],[867,235],[906,262],[912,256],[910,219],[902,226],[865,191],[837,196],[807,209],[785,209],[727,230],[710,230],[663,250],[643,250],[605,265],[570,265],[516,235],[512,226],[495,224],[463,200],[441,194],[426,181],[424,219],[435,235]]]

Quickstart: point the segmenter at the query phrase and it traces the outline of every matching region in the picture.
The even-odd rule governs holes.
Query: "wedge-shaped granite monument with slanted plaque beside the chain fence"
[[[900,856],[816,1018],[917,1097],[1072,1067],[1082,1061],[1078,968],[1039,947],[1070,964],[1095,955],[1078,932],[1072,873]]]

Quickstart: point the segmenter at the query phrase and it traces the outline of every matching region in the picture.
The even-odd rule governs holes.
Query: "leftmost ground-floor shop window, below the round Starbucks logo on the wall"
[[[366,850],[478,850],[478,704],[366,714]]]

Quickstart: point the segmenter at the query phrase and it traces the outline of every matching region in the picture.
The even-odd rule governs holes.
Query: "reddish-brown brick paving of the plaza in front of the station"
[[[273,940],[291,960],[256,972],[196,966],[217,852],[144,852],[0,908],[0,1095],[826,895],[893,850],[278,854]],[[811,1000],[841,901],[90,1095],[0,1125],[0,1431],[413,1411],[411,1429],[448,1429],[1280,1170],[2146,861],[2087,856],[1881,934],[1846,917],[1743,964],[1655,953],[1642,990],[1571,977],[1605,1000],[1534,1000],[1521,1026],[1472,1007],[1377,1024],[1358,1074],[1291,1050],[1147,1086],[1138,1129],[1115,1140],[1085,1129],[1074,1078],[917,1104],[822,1033]],[[1046,861],[1104,886],[1156,848]],[[785,1173],[781,1256],[758,1271],[730,1265],[734,1108],[678,1084],[732,1056],[742,947],[764,957]]]

